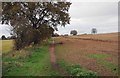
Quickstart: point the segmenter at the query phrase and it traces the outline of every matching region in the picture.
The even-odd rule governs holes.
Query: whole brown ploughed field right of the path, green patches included
[[[118,75],[118,33],[54,38],[57,60],[79,64],[99,76]]]

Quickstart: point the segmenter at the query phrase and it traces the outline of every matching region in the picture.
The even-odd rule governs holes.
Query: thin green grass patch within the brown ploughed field
[[[109,61],[106,61],[105,58],[110,57],[108,54],[89,54],[88,57],[94,58],[97,60],[97,63],[110,69],[114,73],[118,73],[118,65],[115,65]]]

